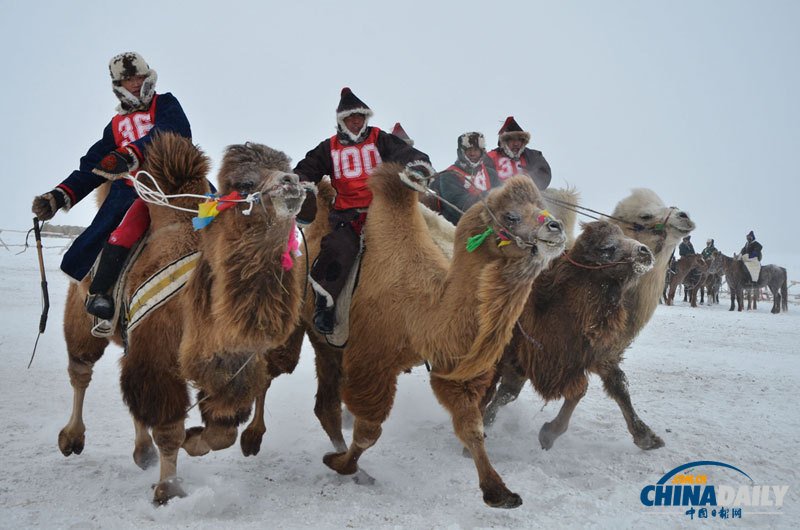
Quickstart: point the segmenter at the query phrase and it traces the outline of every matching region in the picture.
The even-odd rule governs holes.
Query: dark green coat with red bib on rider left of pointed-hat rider
[[[464,164],[461,160],[436,176],[436,191],[442,199],[453,203],[461,212],[478,202],[481,196],[492,188],[503,185],[494,171],[494,166],[486,158],[477,167]],[[474,183],[471,184],[470,181]],[[461,212],[441,201],[441,212],[445,219],[457,224]]]

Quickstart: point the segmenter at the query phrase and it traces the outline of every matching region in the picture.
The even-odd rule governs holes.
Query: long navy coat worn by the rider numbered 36
[[[155,107],[155,108],[153,108]],[[124,139],[119,144],[134,149],[144,160],[147,156],[147,146],[150,144],[154,131],[172,131],[187,138],[192,137],[189,120],[186,118],[178,100],[171,93],[157,94],[153,97],[149,112],[152,113],[153,127],[145,136],[138,140],[127,142]],[[131,115],[128,115],[131,116]],[[117,118],[117,122],[120,120]],[[79,168],[73,171],[58,188],[64,190],[70,198],[71,206],[80,202],[95,188],[107,182],[105,178],[92,173],[92,169],[100,163],[109,152],[121,147],[115,139],[112,123],[106,125],[103,137],[98,140],[89,151],[81,157]],[[125,124],[125,122],[120,122]],[[120,131],[117,131],[118,137]],[[108,197],[100,206],[94,219],[86,230],[70,245],[61,261],[61,270],[75,280],[82,280],[89,272],[97,255],[108,239],[109,234],[119,225],[128,208],[137,198],[136,191],[127,180],[115,180],[111,183]]]

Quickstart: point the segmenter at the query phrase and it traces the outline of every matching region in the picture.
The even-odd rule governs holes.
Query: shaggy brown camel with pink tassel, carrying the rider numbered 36
[[[208,158],[188,140],[165,133],[154,138],[145,169],[166,194],[204,195],[209,191],[208,167]],[[235,422],[249,413],[253,395],[246,392],[257,391],[263,381],[294,368],[292,359],[281,358],[280,349],[267,354],[287,341],[302,301],[298,280],[302,276],[281,266],[281,255],[294,230],[293,217],[305,196],[288,167],[288,157],[266,146],[229,147],[219,174],[221,192],[258,193],[259,200],[222,212],[201,232],[192,229],[194,214],[148,205],[150,235],[128,276],[128,297],[165,265],[197,249],[203,251],[184,289],[127,333],[121,361],[123,399],[136,428],[134,460],[141,467],[154,460],[148,428],[160,453],[156,503],[184,495],[176,474],[178,450],[185,442],[190,454],[221,448],[230,438],[229,424],[235,433]],[[171,204],[191,209],[197,202],[184,197]],[[249,216],[244,215],[246,207]],[[88,280],[71,286],[64,319],[68,371],[75,390],[73,419],[59,435],[65,455],[79,453],[76,448],[83,447],[83,393],[91,367],[108,343],[89,333],[91,321],[82,304],[87,288]],[[197,340],[203,344],[198,346]],[[274,362],[273,357],[277,357]],[[200,407],[208,432],[194,428],[187,434],[184,429],[189,408],[187,378],[201,389]]]

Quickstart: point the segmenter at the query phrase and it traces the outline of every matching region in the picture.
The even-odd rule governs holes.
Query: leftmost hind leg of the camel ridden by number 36
[[[83,399],[92,380],[94,363],[103,356],[108,340],[93,337],[89,330],[92,321],[84,311],[78,286],[70,285],[64,311],[64,339],[69,364],[67,373],[72,385],[72,414],[58,433],[58,448],[64,454],[79,455],[83,451],[86,426],[83,423]]]

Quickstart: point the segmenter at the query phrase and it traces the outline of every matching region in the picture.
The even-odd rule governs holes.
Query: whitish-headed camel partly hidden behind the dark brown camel
[[[650,248],[655,256],[655,265],[641,276],[633,288],[624,292],[622,297],[626,314],[624,324],[613,334],[614,340],[605,343],[605,351],[596,355],[611,363],[603,383],[606,392],[620,407],[628,431],[633,435],[634,443],[642,449],[655,449],[663,446],[664,442],[634,411],[628,393],[627,378],[619,369],[619,364],[622,362],[625,350],[647,324],[658,306],[664,286],[664,276],[675,246],[684,235],[694,230],[695,225],[688,214],[674,207],[667,208],[654,192],[647,189],[633,190],[629,197],[617,204],[612,217],[613,222],[626,236]],[[535,367],[532,367],[532,370],[535,371]],[[500,386],[494,397],[496,402],[494,408],[513,401],[519,395],[525,378],[518,374],[518,370],[504,370],[501,367]],[[545,377],[550,376],[545,375]],[[584,386],[584,392],[585,388]],[[573,391],[571,394],[571,397],[565,397],[556,418],[545,423],[539,432],[539,441],[545,449],[552,447],[555,440],[566,432],[572,412],[583,397],[583,392]],[[494,411],[490,412],[487,418],[492,420],[493,415]]]

